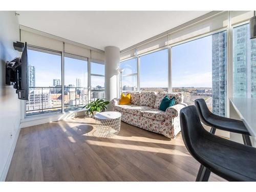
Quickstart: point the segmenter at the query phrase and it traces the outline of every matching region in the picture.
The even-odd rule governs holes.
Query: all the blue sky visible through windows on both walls
[[[53,86],[53,79],[61,79],[61,56],[28,50],[29,65],[35,67],[36,87]],[[122,75],[137,73],[136,59],[122,62]],[[87,87],[88,62],[65,57],[65,85],[81,78],[81,86]],[[92,63],[91,72],[104,74],[104,66]],[[136,76],[125,77],[124,85],[136,86]],[[104,86],[103,77],[92,77],[92,87]],[[211,87],[211,35],[186,42],[172,49],[173,87]],[[167,49],[140,57],[141,88],[167,88]]]

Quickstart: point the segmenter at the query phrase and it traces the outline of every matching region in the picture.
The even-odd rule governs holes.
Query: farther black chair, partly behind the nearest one
[[[216,129],[239,133],[242,134],[244,144],[252,146],[249,137],[250,134],[247,131],[243,121],[221,117],[211,113],[204,99],[196,99],[195,105],[201,121],[205,125],[211,126],[210,133],[215,134]]]

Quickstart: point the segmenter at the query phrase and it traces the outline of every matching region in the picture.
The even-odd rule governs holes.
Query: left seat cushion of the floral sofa
[[[142,112],[146,110],[151,110],[150,106],[138,106],[134,104],[118,104],[115,105],[115,110],[120,112],[126,112],[134,115],[142,116]]]

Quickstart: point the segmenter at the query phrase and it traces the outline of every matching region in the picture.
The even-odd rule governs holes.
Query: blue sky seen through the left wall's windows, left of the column
[[[61,56],[28,50],[29,65],[35,67],[35,86],[53,86],[53,79],[61,79]],[[76,78],[81,79],[81,86],[88,84],[88,62],[65,57],[65,85],[76,86]],[[92,73],[104,75],[104,65],[92,63]],[[92,86],[104,86],[104,78],[93,77]]]

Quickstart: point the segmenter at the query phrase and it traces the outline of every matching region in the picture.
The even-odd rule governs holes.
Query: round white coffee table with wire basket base
[[[97,136],[110,138],[120,131],[121,113],[115,111],[101,112],[94,115],[97,120]]]

